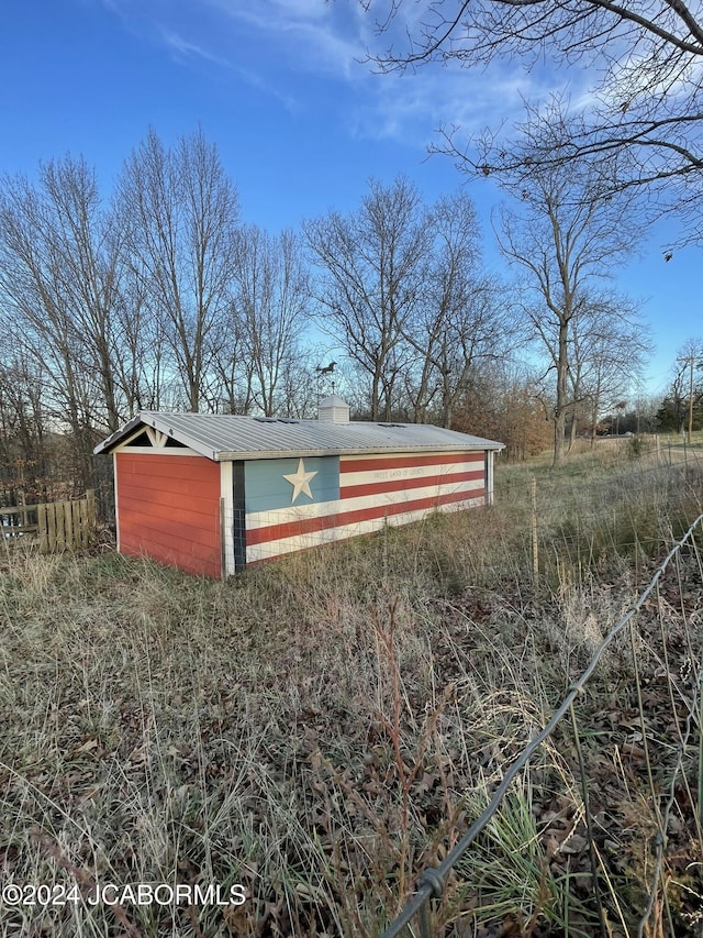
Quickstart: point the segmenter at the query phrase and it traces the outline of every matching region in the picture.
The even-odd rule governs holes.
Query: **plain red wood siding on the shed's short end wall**
[[[204,456],[116,454],[120,552],[220,576],[220,464]]]

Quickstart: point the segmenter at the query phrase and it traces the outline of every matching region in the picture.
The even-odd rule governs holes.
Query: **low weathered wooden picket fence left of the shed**
[[[85,498],[43,505],[0,507],[0,530],[5,542],[29,538],[41,553],[72,551],[89,547],[96,534],[96,493]]]

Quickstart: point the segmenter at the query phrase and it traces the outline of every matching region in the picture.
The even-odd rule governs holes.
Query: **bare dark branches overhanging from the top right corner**
[[[703,174],[703,19],[687,2],[650,0],[360,0],[379,32],[391,41],[373,59],[386,70],[429,62],[486,66],[520,58],[526,67],[550,57],[561,67],[578,65],[598,76],[592,106],[554,148],[526,154],[489,134],[482,154],[456,129],[444,131],[445,146],[466,168],[486,174],[554,168],[582,157],[610,157],[626,151],[628,175],[622,185],[661,180],[678,186],[679,210],[690,210],[692,236],[700,238],[698,200]],[[402,32],[401,32],[402,30]],[[563,102],[556,102],[560,110]],[[533,112],[532,118],[535,118]],[[531,122],[532,122],[531,118]],[[493,129],[495,130],[495,129]],[[486,143],[486,141],[484,141]],[[526,162],[526,158],[528,162]]]

